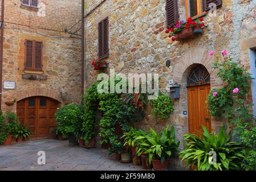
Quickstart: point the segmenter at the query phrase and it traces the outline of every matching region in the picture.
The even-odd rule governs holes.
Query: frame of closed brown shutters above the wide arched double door
[[[26,62],[27,62],[27,41],[32,42],[32,68],[27,68],[26,67]],[[41,68],[36,69],[36,64],[35,64],[35,55],[36,55],[36,42],[41,43]],[[37,41],[37,40],[30,40],[30,39],[25,39],[25,60],[24,60],[24,71],[33,71],[33,72],[42,72],[43,71],[43,42],[42,41]]]

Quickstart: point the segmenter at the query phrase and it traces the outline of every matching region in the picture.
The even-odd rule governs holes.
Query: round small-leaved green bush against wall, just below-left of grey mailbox
[[[151,102],[152,115],[158,119],[167,119],[174,110],[173,101],[170,97],[161,94],[156,100]]]

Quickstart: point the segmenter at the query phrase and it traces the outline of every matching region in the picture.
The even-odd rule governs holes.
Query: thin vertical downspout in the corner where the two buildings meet
[[[84,0],[82,0],[82,95],[84,94]]]

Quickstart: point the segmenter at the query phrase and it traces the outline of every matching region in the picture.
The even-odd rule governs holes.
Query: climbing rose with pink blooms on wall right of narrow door
[[[211,55],[213,55],[212,52]],[[209,104],[211,115],[224,115],[233,124],[234,134],[245,146],[246,158],[243,167],[246,170],[256,169],[256,126],[253,115],[249,111],[252,105],[246,104],[247,93],[253,78],[245,68],[239,67],[231,60],[226,50],[222,51],[222,56],[223,60],[219,56],[216,57],[213,67],[218,70],[217,76],[225,86],[212,90],[206,102]]]

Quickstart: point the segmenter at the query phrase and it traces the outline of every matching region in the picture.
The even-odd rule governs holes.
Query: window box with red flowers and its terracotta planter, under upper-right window
[[[193,21],[192,18],[188,18],[185,22],[181,20],[180,22],[176,22],[175,26],[169,28],[165,31],[166,34],[169,34],[169,38],[172,41],[182,41],[187,40],[193,37],[194,34],[201,34],[202,28],[205,27],[205,23],[203,22],[204,18],[198,18]]]

